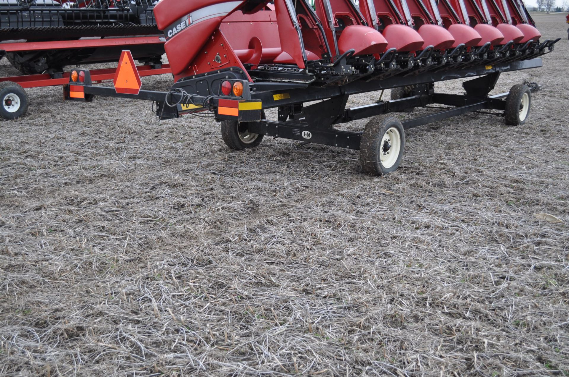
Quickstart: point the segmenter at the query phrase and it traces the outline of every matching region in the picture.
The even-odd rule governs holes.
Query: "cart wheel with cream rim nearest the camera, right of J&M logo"
[[[365,125],[360,142],[360,165],[364,173],[384,175],[397,170],[405,149],[405,130],[399,119],[376,116]]]

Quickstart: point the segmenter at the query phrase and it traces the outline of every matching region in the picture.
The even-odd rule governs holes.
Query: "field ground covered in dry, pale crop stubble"
[[[535,19],[563,39],[493,91],[541,84],[529,122],[410,130],[381,178],[29,90],[0,123],[0,375],[569,375],[569,44],[564,15]]]

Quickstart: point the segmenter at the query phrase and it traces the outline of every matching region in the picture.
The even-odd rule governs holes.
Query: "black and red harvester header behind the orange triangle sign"
[[[153,8],[152,0],[0,0],[0,55],[6,55],[23,74],[57,73],[69,65],[116,61],[124,48],[131,49],[139,61],[159,64],[162,43],[129,45],[124,39],[158,35]],[[123,40],[80,42],[110,37]]]

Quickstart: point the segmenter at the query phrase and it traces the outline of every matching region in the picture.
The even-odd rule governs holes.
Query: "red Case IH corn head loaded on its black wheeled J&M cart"
[[[483,109],[525,123],[529,87],[488,94],[501,72],[541,66],[556,42],[541,40],[520,0],[316,0],[314,8],[305,0],[163,0],[154,14],[167,39],[170,91],[139,90],[124,54],[116,89],[76,70],[66,98],[152,100],[160,119],[211,114],[233,149],[263,136],[359,149],[362,170],[378,175],[397,169],[405,129]],[[435,91],[435,82],[468,77],[464,95]],[[392,88],[389,101],[346,108],[349,95]],[[405,122],[387,115],[428,104],[451,108]],[[269,108],[277,119],[266,119]],[[363,132],[335,128],[372,116]]]

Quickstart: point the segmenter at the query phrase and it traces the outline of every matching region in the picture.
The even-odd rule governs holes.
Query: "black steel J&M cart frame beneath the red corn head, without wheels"
[[[419,125],[437,122],[481,110],[500,110],[507,112],[507,102],[504,100],[509,93],[489,96],[494,89],[502,72],[538,68],[542,66],[541,58],[531,60],[510,61],[496,65],[481,65],[468,69],[455,69],[442,72],[426,72],[417,76],[393,76],[381,80],[352,81],[346,85],[311,86],[310,83],[294,82],[254,82],[240,80],[239,76],[228,76],[232,81],[242,81],[245,86],[241,99],[219,94],[207,96],[195,93],[188,94],[182,85],[169,92],[141,90],[138,94],[120,94],[113,87],[91,85],[89,72],[85,72],[83,86],[85,99],[93,96],[123,97],[144,99],[156,102],[156,115],[160,119],[177,118],[180,115],[212,111],[218,121],[234,122],[236,132],[248,132],[257,135],[280,137],[304,141],[306,143],[338,146],[340,148],[360,149],[364,132],[340,131],[334,128],[337,124],[352,120],[370,118],[390,112],[404,111],[414,107],[425,107],[430,104],[451,106],[450,109],[434,114],[419,116],[401,122],[402,129],[418,127]],[[229,71],[220,72],[226,74]],[[242,72],[241,72],[242,73]],[[212,75],[213,76],[213,75]],[[235,78],[234,78],[235,77]],[[444,94],[435,92],[435,82],[457,78],[472,78],[463,83],[465,94]],[[195,77],[185,84],[186,87],[204,81],[205,77]],[[209,78],[214,79],[214,78]],[[77,85],[77,83],[72,83]],[[210,86],[211,87],[211,86]],[[395,100],[378,101],[377,103],[345,108],[349,95],[393,89],[395,87],[412,88],[409,97]],[[516,86],[514,86],[516,87]],[[531,88],[533,91],[535,88]],[[67,87],[65,98],[69,98]],[[529,89],[525,88],[527,93]],[[218,93],[221,93],[220,91]],[[79,99],[79,100],[85,100]],[[230,99],[234,102],[258,103],[255,111],[242,111],[238,116],[223,115],[219,108],[222,101]],[[318,102],[315,102],[318,101]],[[306,103],[307,106],[305,106]],[[517,108],[516,108],[517,106]],[[519,102],[514,105],[513,112],[518,112]],[[529,103],[528,103],[529,106]],[[264,119],[262,110],[278,108],[278,119]],[[496,115],[504,115],[497,113]],[[507,117],[506,117],[507,118]],[[525,119],[523,120],[525,122]],[[521,122],[521,123],[523,123]],[[224,123],[222,123],[223,131]],[[233,126],[232,126],[233,127]],[[404,136],[403,136],[404,137]],[[225,139],[224,139],[225,140]],[[227,143],[227,141],[226,141]],[[228,144],[229,145],[229,144]],[[253,146],[256,146],[255,144]],[[244,145],[243,148],[248,148]],[[243,149],[237,148],[237,149]],[[398,163],[397,163],[398,165]],[[397,169],[397,166],[395,166]],[[368,169],[369,170],[369,169]],[[381,170],[381,169],[380,169]],[[370,171],[384,174],[389,171]]]

